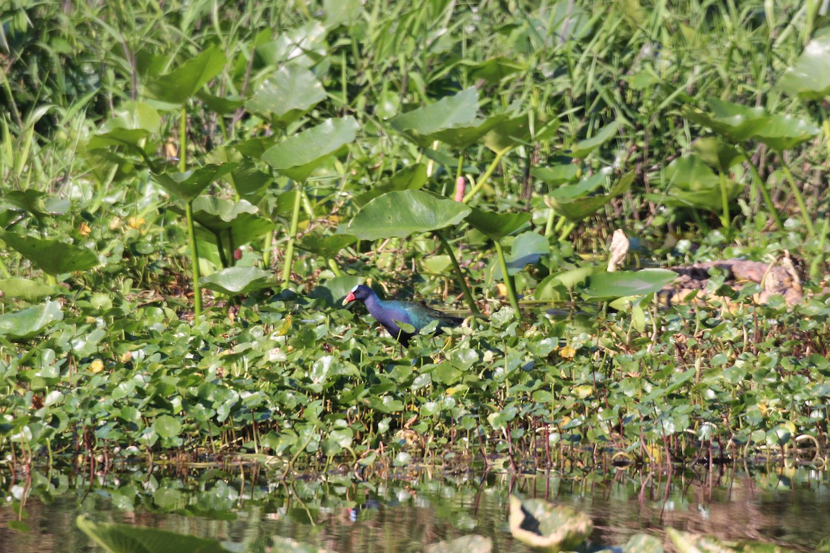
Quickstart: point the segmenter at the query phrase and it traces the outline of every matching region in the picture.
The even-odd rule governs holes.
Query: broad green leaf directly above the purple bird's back
[[[459,201],[443,199],[419,190],[387,192],[369,201],[338,234],[359,240],[405,238],[418,232],[457,225],[471,208]]]

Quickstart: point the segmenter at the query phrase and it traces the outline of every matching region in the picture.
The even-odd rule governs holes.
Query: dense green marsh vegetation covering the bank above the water
[[[824,458],[820,2],[416,3],[7,2],[5,462]],[[618,228],[807,295],[529,301]],[[401,355],[362,279],[490,317]]]

